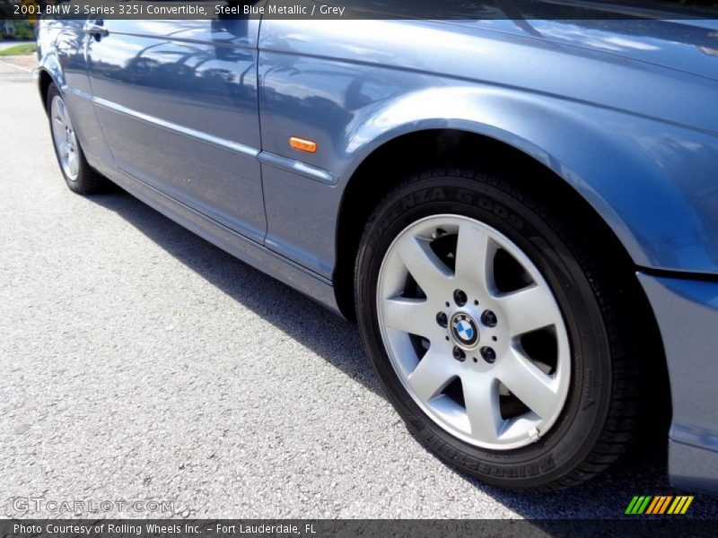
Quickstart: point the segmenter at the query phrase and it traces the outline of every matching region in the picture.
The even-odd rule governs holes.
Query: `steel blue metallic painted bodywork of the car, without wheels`
[[[692,279],[718,279],[718,23],[82,28],[45,22],[39,67],[65,95],[92,166],[334,310],[337,221],[353,203],[344,194],[385,143],[452,129],[553,170],[638,267],[670,371],[671,475],[716,489],[718,477],[697,480],[696,462],[718,457],[718,283]],[[319,151],[293,150],[290,136]]]

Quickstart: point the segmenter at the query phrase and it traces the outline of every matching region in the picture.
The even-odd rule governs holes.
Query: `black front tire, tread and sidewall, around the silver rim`
[[[597,227],[567,204],[472,169],[429,169],[387,195],[368,222],[355,266],[357,318],[363,345],[408,430],[447,464],[512,490],[559,490],[600,473],[634,437],[640,369],[631,312],[629,267]],[[546,435],[524,447],[489,450],[438,426],[400,382],[384,347],[377,282],[391,242],[412,222],[452,213],[503,233],[538,266],[565,318],[571,382],[563,410]],[[637,292],[637,291],[636,291]]]

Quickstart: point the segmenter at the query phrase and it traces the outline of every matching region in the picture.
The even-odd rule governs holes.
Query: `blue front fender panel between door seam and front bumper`
[[[376,37],[358,46],[362,35]],[[342,188],[368,155],[402,134],[486,134],[572,184],[637,265],[718,273],[718,82],[535,41],[444,22],[267,20],[259,61],[263,149],[326,169]],[[425,44],[421,56],[416,42]],[[476,56],[469,68],[466,50]],[[711,60],[718,69],[718,58]],[[696,106],[681,106],[683,95]],[[286,142],[293,134],[322,150],[297,155]],[[326,201],[320,214],[292,207],[281,193],[267,196],[267,213],[280,215],[269,217],[268,238],[320,270],[334,265],[334,239],[300,230],[313,218],[336,221],[337,196],[303,188]]]

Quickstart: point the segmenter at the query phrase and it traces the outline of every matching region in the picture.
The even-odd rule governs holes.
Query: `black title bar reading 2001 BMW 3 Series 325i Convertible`
[[[718,19],[718,0],[0,0],[0,19]]]

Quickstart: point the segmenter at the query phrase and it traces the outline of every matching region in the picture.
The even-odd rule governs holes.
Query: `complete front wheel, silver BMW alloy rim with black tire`
[[[550,206],[500,178],[425,172],[384,200],[357,258],[363,343],[409,430],[512,489],[580,482],[635,428],[614,272]]]

